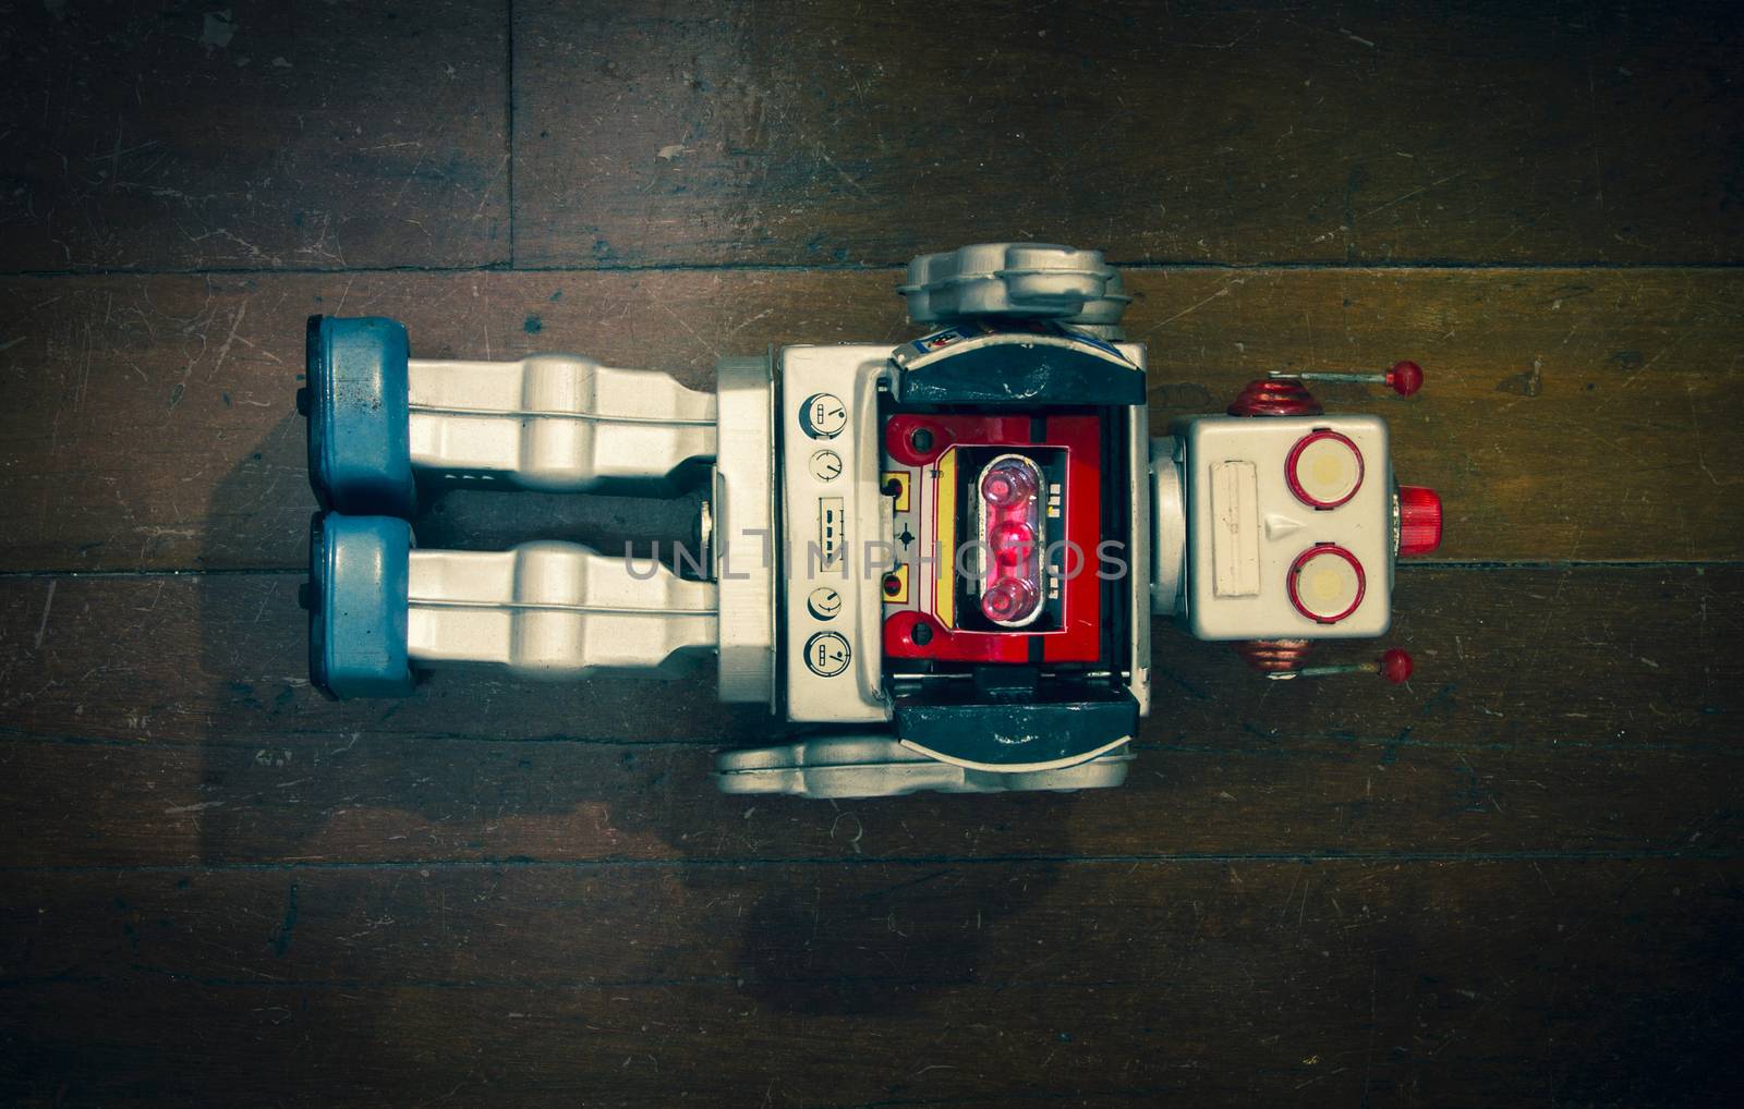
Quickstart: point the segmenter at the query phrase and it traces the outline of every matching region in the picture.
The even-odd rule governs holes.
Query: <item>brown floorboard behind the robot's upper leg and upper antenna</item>
[[[895,276],[333,274],[0,282],[0,568],[303,563],[309,312],[391,314],[431,357],[579,349],[708,387],[722,354],[910,333]],[[1388,366],[1329,387],[1393,422],[1400,480],[1448,504],[1444,560],[1732,560],[1741,553],[1737,270],[1135,272],[1153,431],[1273,368]],[[450,497],[426,544],[689,532],[689,509]]]

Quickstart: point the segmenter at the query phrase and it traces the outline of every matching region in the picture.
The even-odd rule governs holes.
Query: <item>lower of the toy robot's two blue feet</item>
[[[412,692],[406,572],[412,525],[316,514],[309,527],[309,680],[331,697]]]

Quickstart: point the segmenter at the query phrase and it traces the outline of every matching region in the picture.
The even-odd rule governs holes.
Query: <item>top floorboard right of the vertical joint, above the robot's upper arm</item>
[[[532,0],[514,258],[1737,260],[1741,45],[1727,3]]]

